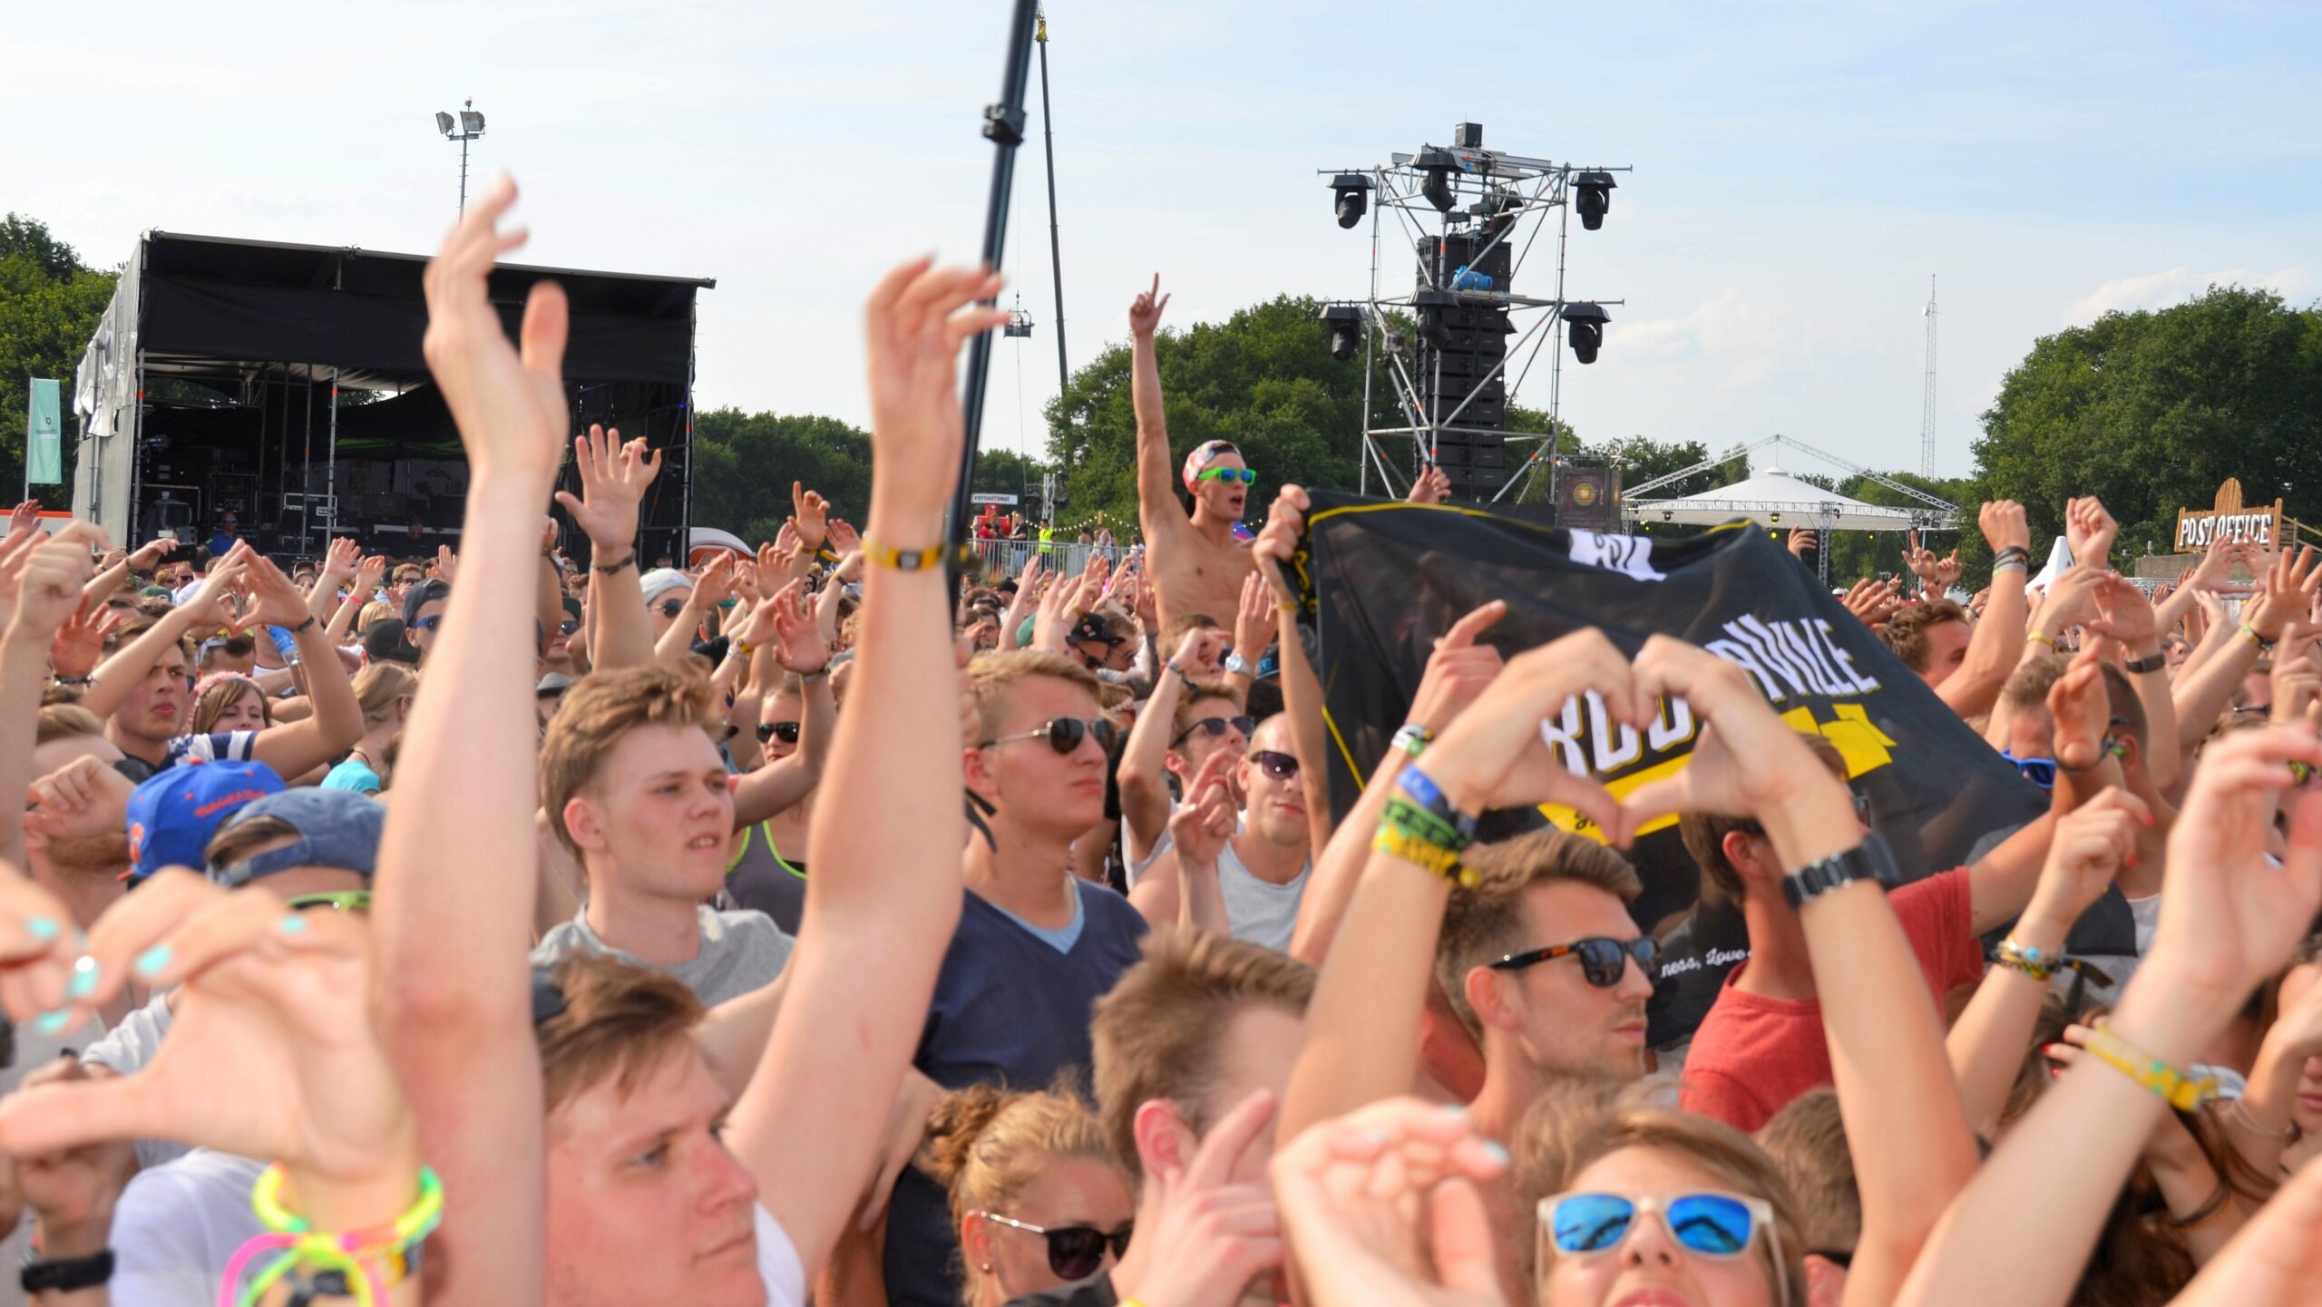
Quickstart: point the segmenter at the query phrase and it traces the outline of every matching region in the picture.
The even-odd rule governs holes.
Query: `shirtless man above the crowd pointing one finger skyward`
[[[1194,515],[1177,508],[1170,488],[1168,420],[1161,416],[1161,362],[1154,327],[1161,325],[1161,276],[1128,306],[1128,351],[1138,409],[1138,520],[1145,525],[1149,569],[1161,601],[1161,624],[1180,613],[1233,613],[1242,606],[1242,578],[1256,566],[1249,541],[1233,539],[1249,501],[1249,464],[1228,441],[1205,441],[1184,457],[1182,483],[1194,497]]]

